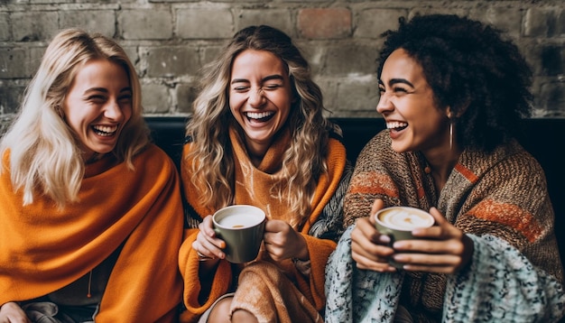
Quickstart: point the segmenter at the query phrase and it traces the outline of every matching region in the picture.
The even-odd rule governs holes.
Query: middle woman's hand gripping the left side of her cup
[[[199,253],[200,260],[208,263],[226,258],[226,254],[222,251],[226,248],[226,242],[216,236],[212,216],[204,217],[199,224],[199,230],[196,240],[192,243],[192,249]]]

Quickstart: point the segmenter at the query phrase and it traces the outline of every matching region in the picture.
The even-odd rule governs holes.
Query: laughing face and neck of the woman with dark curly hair
[[[399,49],[385,60],[376,111],[390,130],[395,152],[449,150],[449,118],[436,105],[421,65]]]

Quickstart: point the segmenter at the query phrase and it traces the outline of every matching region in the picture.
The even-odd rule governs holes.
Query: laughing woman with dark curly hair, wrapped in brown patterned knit
[[[344,198],[327,321],[558,320],[546,180],[514,139],[532,100],[518,49],[456,15],[401,19],[384,35],[376,110],[388,129],[366,144]],[[435,226],[391,242],[375,227],[391,206],[429,211]]]

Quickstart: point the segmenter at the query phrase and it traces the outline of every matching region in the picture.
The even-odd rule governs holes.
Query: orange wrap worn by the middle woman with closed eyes
[[[284,201],[276,200],[273,195],[268,194],[273,181],[280,180],[277,175],[282,161],[281,156],[289,144],[290,137],[280,136],[265,154],[264,162],[258,168],[255,168],[246,157],[245,147],[233,130],[230,132],[230,139],[232,151],[236,155],[236,203],[255,205],[265,210],[268,219],[282,219],[287,223],[292,223],[292,217],[296,215],[289,214]],[[190,147],[190,143],[185,145],[183,152],[185,156],[190,151]],[[318,180],[318,186],[312,198],[312,212],[305,222],[302,221],[303,223],[295,227],[306,240],[310,253],[310,275],[301,274],[290,259],[276,263],[294,283],[295,288],[301,292],[303,299],[310,302],[311,306],[318,311],[323,310],[325,306],[325,266],[329,254],[335,249],[338,236],[343,232],[341,202],[350,177],[345,147],[337,139],[329,139],[327,162],[329,171],[322,174]],[[199,205],[199,189],[194,187],[190,181],[190,169],[187,165],[181,166],[185,196],[190,204],[188,209],[197,212],[197,214],[190,213],[189,215],[189,224],[192,228],[187,230],[186,240],[180,252],[181,274],[185,280],[184,303],[187,308],[181,315],[183,322],[195,321],[211,306],[214,300],[232,291],[231,286],[236,282],[235,279],[239,273],[236,272],[235,266],[231,266],[227,261],[220,261],[208,300],[205,303],[199,302],[198,296],[201,292],[199,257],[191,244],[199,233],[197,226],[199,218],[207,217],[214,210]],[[263,260],[268,261],[268,259]]]

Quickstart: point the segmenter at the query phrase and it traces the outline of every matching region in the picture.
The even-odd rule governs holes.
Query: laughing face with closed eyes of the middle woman
[[[262,158],[286,122],[292,87],[282,60],[270,51],[242,51],[231,68],[229,107],[245,132],[247,150]]]

